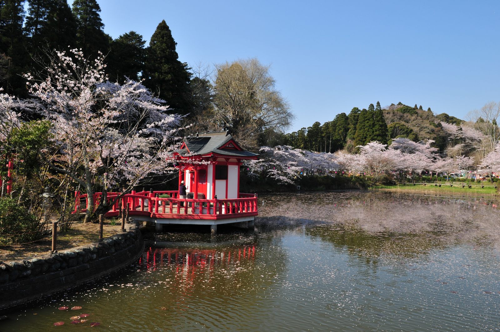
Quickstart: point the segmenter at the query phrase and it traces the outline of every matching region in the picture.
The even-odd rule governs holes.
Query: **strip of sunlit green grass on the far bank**
[[[496,196],[498,195],[497,189],[493,187],[484,187],[473,186],[472,188],[468,188],[462,186],[459,183],[453,184],[452,187],[449,184],[442,184],[439,186],[434,186],[434,184],[427,184],[423,186],[422,184],[412,185],[375,185],[371,187],[374,190],[381,191],[395,191],[395,192],[409,192],[409,193],[423,193],[423,194],[433,194],[433,195],[442,195],[442,194],[451,194],[451,195],[471,195],[471,196]]]

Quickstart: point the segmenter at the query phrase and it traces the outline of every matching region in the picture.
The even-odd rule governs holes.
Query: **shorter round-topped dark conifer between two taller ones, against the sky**
[[[125,77],[138,81],[144,69],[146,41],[135,31],[123,33],[111,42],[107,72],[111,82],[123,83]]]

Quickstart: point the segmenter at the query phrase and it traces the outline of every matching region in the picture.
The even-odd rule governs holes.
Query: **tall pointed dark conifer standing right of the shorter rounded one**
[[[187,63],[178,60],[177,43],[165,20],[162,20],[149,41],[144,65],[144,85],[174,108],[175,113],[186,114],[190,105]]]

